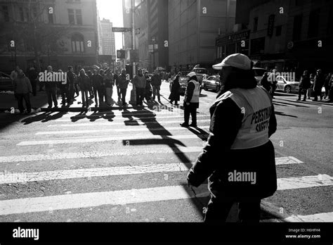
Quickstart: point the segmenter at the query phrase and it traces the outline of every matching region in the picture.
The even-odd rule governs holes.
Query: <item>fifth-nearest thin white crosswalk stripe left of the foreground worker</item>
[[[209,126],[200,126],[201,129],[209,129]],[[150,131],[171,131],[171,130],[188,130],[186,127],[135,127],[135,128],[112,128],[107,130],[65,130],[65,131],[44,131],[37,132],[36,135],[49,135],[49,134],[90,134],[98,132],[150,132]],[[148,136],[149,137],[149,136]],[[124,135],[124,138],[126,136]]]

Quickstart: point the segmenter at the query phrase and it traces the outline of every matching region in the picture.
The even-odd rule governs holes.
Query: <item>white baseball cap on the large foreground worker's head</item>
[[[251,60],[244,54],[230,54],[221,63],[213,65],[215,70],[222,70],[223,67],[232,66],[242,70],[251,69]]]

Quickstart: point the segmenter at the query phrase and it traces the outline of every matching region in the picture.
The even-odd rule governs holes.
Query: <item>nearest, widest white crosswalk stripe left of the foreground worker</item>
[[[186,188],[185,186],[154,187],[5,200],[0,201],[0,215],[188,199],[192,197],[188,193],[192,192],[186,191]]]

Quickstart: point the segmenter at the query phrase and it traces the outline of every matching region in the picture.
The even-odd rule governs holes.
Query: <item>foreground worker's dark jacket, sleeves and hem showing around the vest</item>
[[[234,87],[250,89],[256,87],[256,80],[239,80]],[[244,83],[243,83],[244,82]],[[233,88],[226,82],[226,90]],[[269,96],[267,92],[267,96]],[[270,96],[269,96],[270,97]],[[271,97],[270,97],[271,98]],[[272,103],[273,108],[273,103]],[[209,137],[195,165],[190,169],[188,182],[198,187],[209,177],[209,191],[214,196],[233,197],[237,200],[272,196],[277,189],[275,153],[269,141],[252,149],[231,150],[238,130],[242,126],[243,114],[236,103],[228,98],[214,103],[210,108],[211,124]],[[276,118],[270,115],[268,136],[276,130]],[[228,173],[256,172],[256,184],[230,182]]]

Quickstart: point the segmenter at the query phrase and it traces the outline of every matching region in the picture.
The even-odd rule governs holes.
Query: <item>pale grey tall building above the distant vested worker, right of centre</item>
[[[211,67],[216,37],[233,30],[235,7],[235,0],[169,0],[169,65]]]

